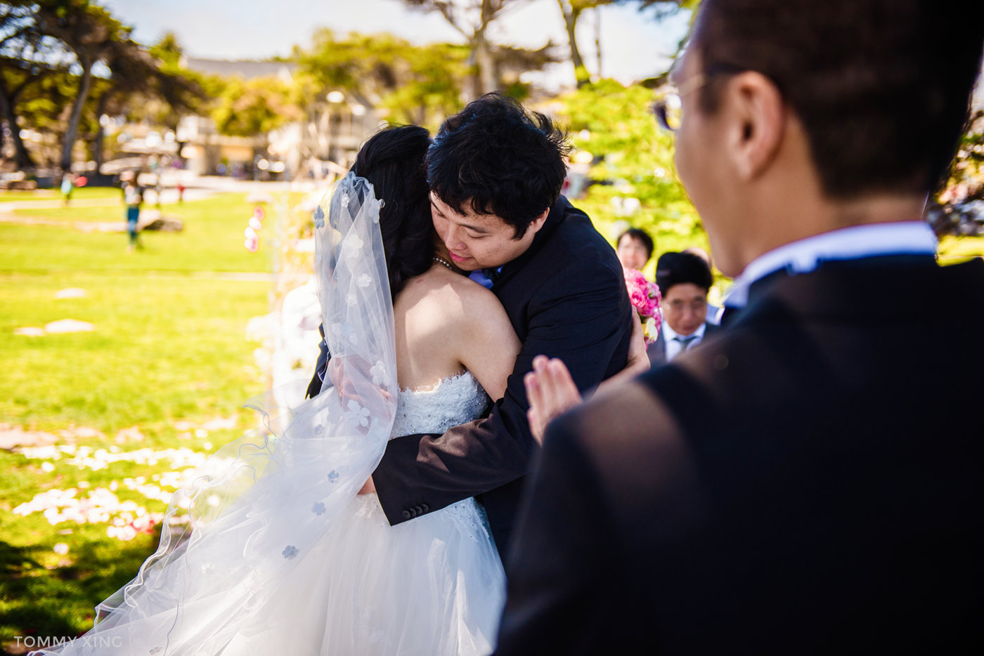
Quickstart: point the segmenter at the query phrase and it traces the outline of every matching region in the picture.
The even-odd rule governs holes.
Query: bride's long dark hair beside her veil
[[[372,183],[383,201],[379,227],[383,234],[390,292],[430,268],[434,256],[434,224],[424,155],[430,133],[416,125],[384,129],[362,146],[352,172]]]

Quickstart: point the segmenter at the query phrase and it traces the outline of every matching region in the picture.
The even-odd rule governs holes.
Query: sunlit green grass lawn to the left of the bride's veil
[[[54,224],[0,223],[0,424],[124,457],[92,469],[69,454],[0,450],[0,647],[10,653],[17,636],[92,626],[92,607],[156,544],[156,533],[109,535],[114,521],[132,518],[125,509],[106,521],[52,525],[40,511],[15,508],[46,491],[83,499],[98,489],[162,512],[166,505],[134,481],[173,490],[161,476],[187,465],[175,466],[165,449],[204,454],[239,437],[252,421],[240,406],[264,389],[253,358],[259,344],[245,329],[269,311],[271,283],[242,273],[269,271],[269,249],[243,248],[252,207],[242,195],[164,206],[182,215],[185,230],[146,232],[132,254],[125,233],[73,227],[103,220],[105,210],[32,209],[23,215]],[[119,212],[110,211],[114,220]],[[85,296],[55,298],[70,287]],[[15,333],[63,319],[94,329]],[[216,418],[226,422],[210,425]],[[157,455],[126,459],[140,449]]]

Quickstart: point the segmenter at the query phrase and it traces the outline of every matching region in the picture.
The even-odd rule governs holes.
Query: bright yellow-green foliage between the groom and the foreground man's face
[[[673,137],[658,128],[649,112],[653,99],[649,89],[614,80],[585,85],[562,98],[572,142],[582,151],[574,157],[593,155],[588,177],[601,183],[591,185],[578,205],[613,232],[625,222],[646,229],[657,255],[706,248],[697,211],[674,174]],[[639,209],[622,213],[626,199],[638,199]]]

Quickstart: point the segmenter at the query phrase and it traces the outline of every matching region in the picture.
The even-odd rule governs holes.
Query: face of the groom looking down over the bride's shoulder
[[[465,271],[499,268],[519,258],[543,226],[549,210],[537,216],[525,234],[516,238],[516,229],[495,214],[480,214],[465,203],[465,213],[451,209],[431,192],[434,229],[448,247],[455,266]]]

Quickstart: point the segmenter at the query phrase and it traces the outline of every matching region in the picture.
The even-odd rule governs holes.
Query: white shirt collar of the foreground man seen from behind
[[[755,260],[735,278],[724,306],[743,308],[752,283],[781,268],[807,273],[824,261],[883,255],[935,255],[936,234],[924,221],[852,225],[784,244]]]

